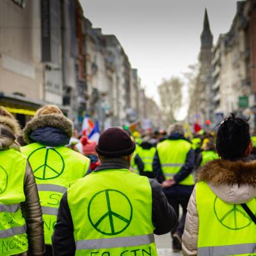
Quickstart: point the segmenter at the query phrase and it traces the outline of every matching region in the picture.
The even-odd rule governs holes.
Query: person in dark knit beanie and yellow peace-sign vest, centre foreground
[[[177,217],[154,179],[131,172],[135,143],[120,128],[102,132],[100,166],[63,195],[54,227],[54,255],[157,255],[154,234]]]

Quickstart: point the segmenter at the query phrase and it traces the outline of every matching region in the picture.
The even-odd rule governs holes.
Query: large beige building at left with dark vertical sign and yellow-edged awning
[[[86,107],[81,15],[76,0],[0,1],[0,104],[22,125],[43,104],[74,121]]]

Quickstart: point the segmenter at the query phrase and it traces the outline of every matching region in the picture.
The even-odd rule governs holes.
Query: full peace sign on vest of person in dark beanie
[[[106,204],[107,210],[102,216],[99,216],[95,208],[104,204]],[[119,213],[113,210],[115,207]],[[122,211],[122,214],[120,211]],[[129,198],[118,190],[102,190],[93,195],[90,200],[88,218],[93,228],[97,231],[107,236],[114,236],[122,233],[130,225],[132,220],[132,204]]]

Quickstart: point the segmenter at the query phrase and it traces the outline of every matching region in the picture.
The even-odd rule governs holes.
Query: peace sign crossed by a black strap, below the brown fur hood
[[[221,210],[222,207],[225,207],[227,211],[225,212],[225,214],[220,214],[220,212],[223,212],[223,210]],[[243,229],[248,227],[252,223],[252,219],[243,210],[243,207],[241,207],[241,205],[224,204],[217,196],[214,200],[214,213],[218,221],[220,221],[221,225],[231,230]]]

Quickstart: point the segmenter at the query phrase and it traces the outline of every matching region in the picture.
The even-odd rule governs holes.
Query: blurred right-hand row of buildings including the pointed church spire
[[[205,10],[195,90],[198,93],[193,95],[194,102],[200,103],[189,109],[188,120],[214,127],[224,116],[236,113],[250,116],[255,128],[256,0],[237,1],[229,31],[221,34],[215,45],[209,20]]]

